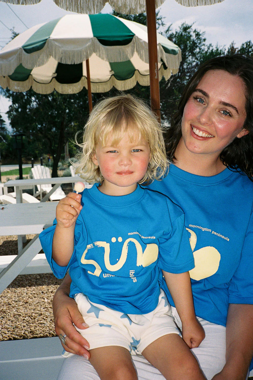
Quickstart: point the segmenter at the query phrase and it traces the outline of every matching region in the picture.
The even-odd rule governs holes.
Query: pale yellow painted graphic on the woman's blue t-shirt
[[[190,246],[192,248],[195,261],[195,268],[189,271],[190,277],[193,280],[203,280],[215,274],[220,264],[220,253],[214,247],[203,247],[194,251],[197,236],[194,231],[186,228],[190,232]]]

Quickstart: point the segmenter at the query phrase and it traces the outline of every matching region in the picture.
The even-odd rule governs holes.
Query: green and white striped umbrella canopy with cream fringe
[[[159,79],[178,71],[181,51],[157,33]],[[91,91],[115,86],[130,89],[138,81],[149,85],[148,35],[144,25],[110,14],[67,14],[36,25],[0,51],[0,85],[24,92],[76,93],[87,88],[86,59]]]

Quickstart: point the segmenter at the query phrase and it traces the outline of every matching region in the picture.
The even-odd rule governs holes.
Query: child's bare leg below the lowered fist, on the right
[[[178,334],[158,338],[143,350],[142,355],[167,380],[205,379],[196,358]]]

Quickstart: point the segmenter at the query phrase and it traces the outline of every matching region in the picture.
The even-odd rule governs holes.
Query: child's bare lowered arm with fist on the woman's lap
[[[162,272],[182,322],[182,337],[190,348],[198,347],[205,332],[196,319],[189,272]]]

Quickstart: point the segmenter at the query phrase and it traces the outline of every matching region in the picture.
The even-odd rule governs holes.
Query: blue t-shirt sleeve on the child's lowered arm
[[[168,217],[168,224],[170,228],[159,239],[158,266],[170,273],[190,271],[195,264],[189,235],[184,226],[184,213],[173,221]]]

